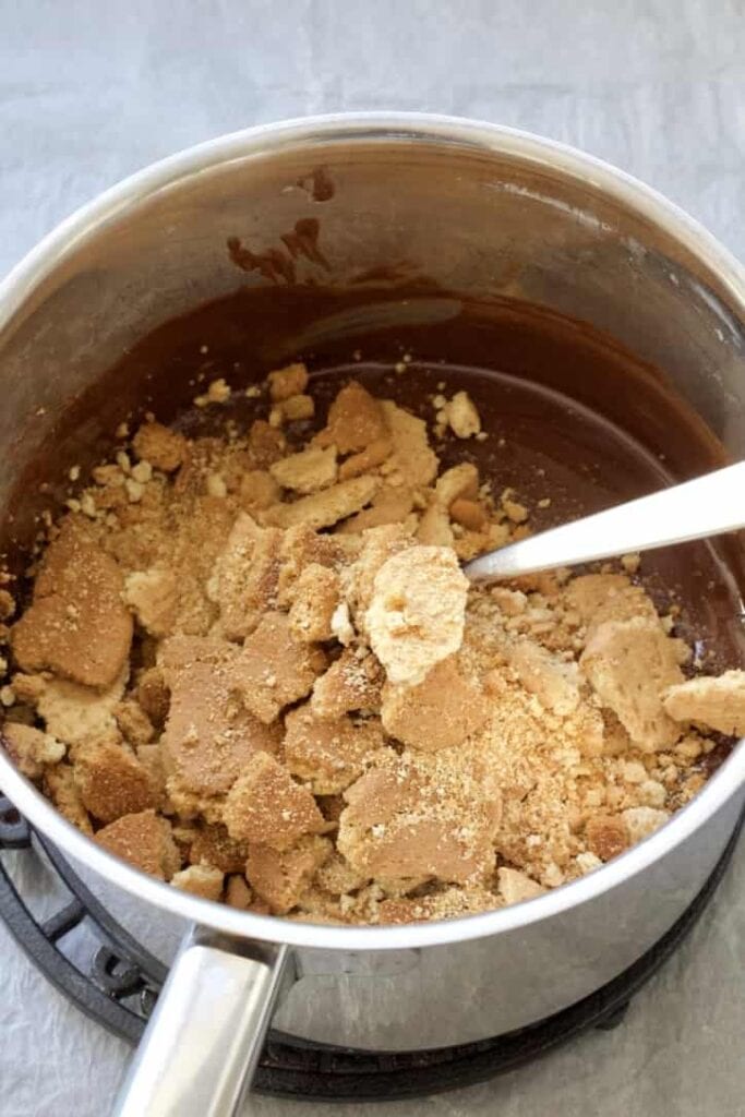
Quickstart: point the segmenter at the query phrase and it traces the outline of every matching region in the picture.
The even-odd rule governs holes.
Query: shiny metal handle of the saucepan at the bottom
[[[193,927],[122,1083],[113,1117],[232,1117],[273,1010],[293,980],[285,945]]]

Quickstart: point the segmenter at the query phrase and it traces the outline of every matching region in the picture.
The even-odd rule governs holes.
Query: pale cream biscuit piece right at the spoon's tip
[[[421,682],[460,648],[468,579],[452,551],[417,546],[378,571],[365,628],[390,682]]]

